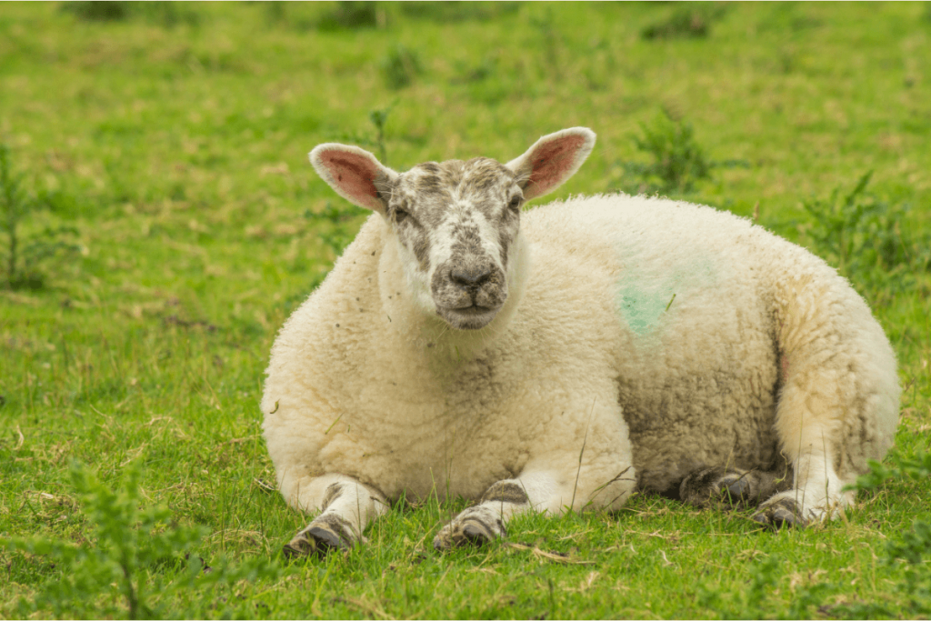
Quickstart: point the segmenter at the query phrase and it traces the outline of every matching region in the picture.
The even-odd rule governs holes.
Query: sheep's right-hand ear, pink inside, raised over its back
[[[507,163],[518,175],[524,200],[549,194],[573,176],[595,146],[595,132],[571,128],[544,136]]]

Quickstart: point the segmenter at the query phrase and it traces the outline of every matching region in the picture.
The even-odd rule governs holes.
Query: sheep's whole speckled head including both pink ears
[[[455,330],[479,330],[507,299],[521,206],[569,179],[594,144],[590,129],[563,129],[506,164],[475,157],[401,173],[337,143],[320,144],[310,161],[337,194],[385,218],[415,304]]]

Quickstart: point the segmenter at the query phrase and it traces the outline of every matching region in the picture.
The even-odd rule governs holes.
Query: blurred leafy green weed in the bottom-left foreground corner
[[[51,610],[56,616],[164,618],[202,616],[196,610],[166,609],[166,595],[205,587],[232,588],[242,579],[275,578],[276,566],[252,560],[239,567],[225,560],[209,567],[196,555],[203,526],[174,523],[166,506],[142,506],[142,468],[128,466],[121,489],[101,483],[84,466],[73,466],[72,483],[80,498],[81,543],[43,536],[0,539],[11,552],[53,563],[33,598],[20,599],[23,616]],[[225,614],[230,614],[230,610]]]

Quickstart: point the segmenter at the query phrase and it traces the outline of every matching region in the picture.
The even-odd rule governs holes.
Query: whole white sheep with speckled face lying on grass
[[[286,554],[364,542],[402,496],[477,501],[439,550],[635,490],[756,507],[770,527],[850,505],[898,418],[867,304],[727,212],[621,194],[521,209],[594,143],[563,129],[506,164],[406,172],[355,146],[310,153],[374,213],[272,348],[264,438],[287,503],[317,513]]]

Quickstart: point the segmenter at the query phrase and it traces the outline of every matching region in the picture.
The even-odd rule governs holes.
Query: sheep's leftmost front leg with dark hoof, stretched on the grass
[[[366,527],[387,511],[385,496],[351,477],[331,474],[304,478],[297,484],[295,495],[286,496],[289,504],[305,511],[319,510],[320,515],[284,547],[292,559],[365,543]]]

